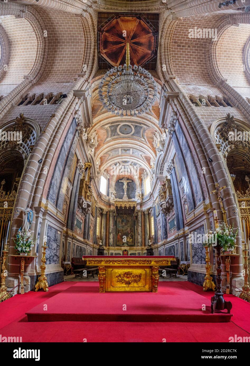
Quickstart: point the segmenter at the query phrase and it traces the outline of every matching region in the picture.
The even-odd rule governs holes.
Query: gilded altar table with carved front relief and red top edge
[[[158,291],[159,266],[170,266],[174,256],[84,255],[87,266],[98,266],[99,292]]]

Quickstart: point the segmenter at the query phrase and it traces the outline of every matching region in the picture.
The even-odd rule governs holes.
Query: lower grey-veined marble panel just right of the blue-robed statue
[[[48,225],[46,264],[59,264],[61,233]]]

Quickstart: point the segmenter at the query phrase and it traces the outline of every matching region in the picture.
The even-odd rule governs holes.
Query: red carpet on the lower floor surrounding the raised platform
[[[23,342],[228,342],[230,336],[250,336],[250,304],[233,295],[224,295],[232,301],[233,322],[28,322],[25,312],[74,286],[64,282],[51,286],[49,292],[28,292],[0,303],[0,334],[19,336]],[[92,283],[93,284],[93,283]],[[200,294],[203,303],[210,303],[213,292],[182,282],[185,288]],[[71,289],[72,291],[72,289]],[[100,294],[105,295],[105,294]],[[157,294],[155,294],[157,295]],[[91,304],[90,304],[91,306]],[[242,329],[243,328],[243,329]],[[249,332],[247,332],[247,330]]]

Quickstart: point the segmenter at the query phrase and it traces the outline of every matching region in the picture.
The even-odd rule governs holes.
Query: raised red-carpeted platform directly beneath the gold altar
[[[213,292],[210,292],[211,296]],[[211,314],[210,299],[179,282],[160,282],[158,292],[105,292],[98,282],[76,282],[26,312],[28,321],[229,322]],[[202,307],[206,306],[206,310]],[[126,310],[125,310],[126,309]]]

